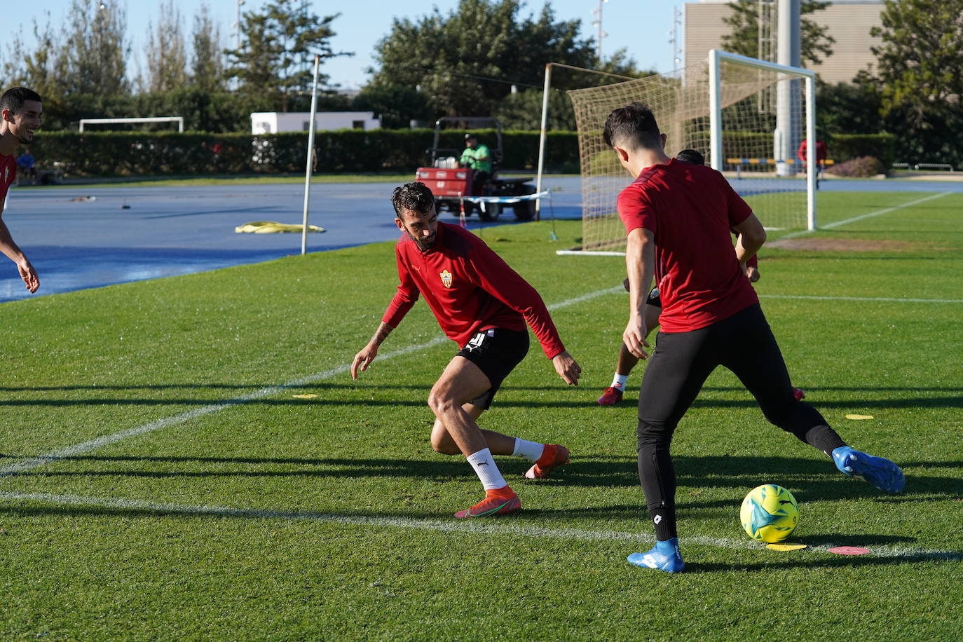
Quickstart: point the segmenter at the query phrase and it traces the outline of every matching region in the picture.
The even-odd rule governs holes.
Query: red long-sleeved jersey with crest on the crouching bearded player
[[[401,283],[381,321],[398,327],[418,294],[449,339],[459,347],[476,332],[532,326],[551,359],[565,347],[541,296],[508,267],[488,245],[456,225],[438,223],[435,244],[427,252],[403,234],[395,245]]]

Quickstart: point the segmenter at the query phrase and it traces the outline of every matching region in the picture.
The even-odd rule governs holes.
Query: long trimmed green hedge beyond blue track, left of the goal
[[[318,132],[315,171],[413,172],[427,164],[432,135],[429,129]],[[478,135],[494,146],[494,132]],[[439,145],[460,150],[463,137],[463,132],[446,132]],[[503,142],[502,167],[536,167],[538,132],[506,132]],[[38,167],[60,167],[67,176],[290,173],[304,170],[307,133],[47,132],[39,134],[31,147]],[[549,133],[545,168],[578,171],[574,132]]]

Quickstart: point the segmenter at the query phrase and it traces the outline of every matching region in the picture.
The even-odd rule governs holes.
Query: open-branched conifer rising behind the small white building
[[[314,57],[334,56],[329,40],[331,22],[340,13],[319,17],[300,0],[273,0],[261,13],[245,13],[241,20],[243,44],[228,50],[230,78],[240,81],[239,90],[250,95],[266,94],[282,111],[310,102]],[[321,82],[327,76],[320,75]]]

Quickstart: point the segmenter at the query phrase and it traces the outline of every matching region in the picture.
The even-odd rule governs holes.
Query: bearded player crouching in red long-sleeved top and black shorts
[[[391,201],[395,223],[404,233],[395,245],[401,284],[375,336],[354,356],[351,378],[357,378],[359,369],[368,369],[378,346],[423,295],[441,329],[461,347],[429,394],[435,416],[431,448],[463,454],[485,490],[484,500],[455,517],[513,513],[521,501],[492,455],[533,461],[525,476],[534,479],[566,463],[569,454],[563,446],[481,430],[476,423],[508,372],[528,352],[526,321],[566,383],[578,384],[582,369],[562,346],[541,296],[481,239],[457,225],[439,222],[434,195],[425,184],[396,188]]]

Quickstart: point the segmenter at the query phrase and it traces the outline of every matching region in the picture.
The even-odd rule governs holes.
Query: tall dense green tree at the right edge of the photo
[[[963,0],[887,0],[872,36],[887,129],[905,158],[963,163]]]

